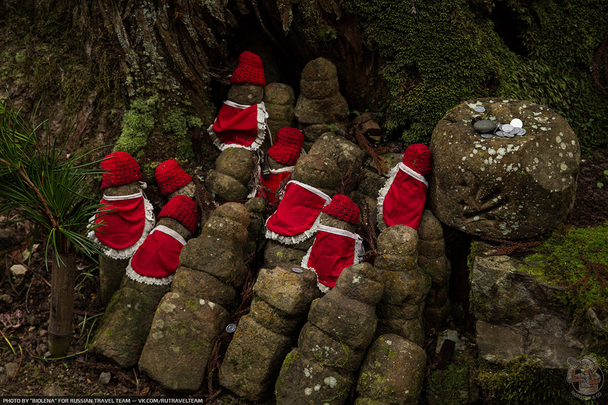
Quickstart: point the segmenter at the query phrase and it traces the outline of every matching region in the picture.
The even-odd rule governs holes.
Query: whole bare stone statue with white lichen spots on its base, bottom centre
[[[381,274],[369,263],[342,271],[330,292],[313,302],[298,347],[277,380],[277,405],[344,404],[376,330]]]

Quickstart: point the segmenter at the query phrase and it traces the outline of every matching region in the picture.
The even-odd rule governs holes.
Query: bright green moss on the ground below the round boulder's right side
[[[533,274],[539,281],[566,287],[554,294],[554,304],[568,308],[573,322],[590,325],[587,310],[591,305],[607,307],[608,289],[601,286],[595,274],[587,278],[584,287],[583,282],[578,282],[587,273],[587,265],[579,256],[608,265],[607,240],[608,222],[595,228],[564,226],[542,243],[539,253],[527,257],[527,267],[521,271]]]

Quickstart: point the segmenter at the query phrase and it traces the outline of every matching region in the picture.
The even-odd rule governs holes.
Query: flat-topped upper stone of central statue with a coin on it
[[[291,267],[275,267],[273,270],[262,268],[254,285],[254,293],[286,314],[306,313],[320,292],[316,286],[316,274],[308,269],[302,270],[302,273],[294,273]]]

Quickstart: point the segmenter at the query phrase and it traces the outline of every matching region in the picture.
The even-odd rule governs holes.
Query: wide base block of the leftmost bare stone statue
[[[195,392],[205,378],[219,325],[228,319],[214,302],[165,294],[139,359],[140,370],[167,389]]]

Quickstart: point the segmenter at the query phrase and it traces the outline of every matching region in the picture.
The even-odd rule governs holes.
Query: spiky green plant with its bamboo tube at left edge
[[[66,352],[71,338],[75,253],[92,258],[100,252],[86,237],[99,205],[87,196],[85,180],[100,173],[98,162],[85,161],[92,150],[64,158],[65,146],[57,144],[47,121],[35,125],[12,103],[0,103],[0,214],[15,209],[33,224],[28,237],[46,239],[45,257],[52,255],[49,351],[54,356]]]

